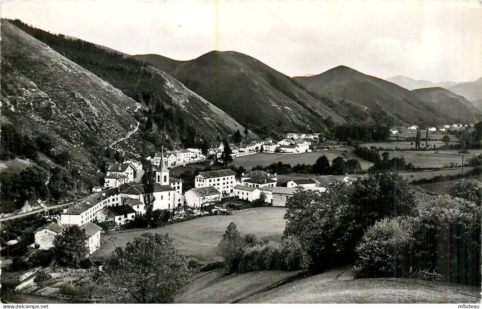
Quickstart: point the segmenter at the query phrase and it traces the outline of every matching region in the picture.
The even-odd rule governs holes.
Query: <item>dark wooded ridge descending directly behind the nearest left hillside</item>
[[[145,62],[79,39],[53,35],[18,20],[12,23],[140,103],[140,127],[133,138],[141,149],[129,149],[132,143],[126,141],[116,144],[122,150],[144,155],[161,146],[201,147],[217,136],[244,131],[225,112]],[[249,136],[256,137],[252,132]]]

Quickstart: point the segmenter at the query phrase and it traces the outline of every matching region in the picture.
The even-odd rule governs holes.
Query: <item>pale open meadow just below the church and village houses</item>
[[[261,239],[280,240],[286,223],[283,219],[285,212],[284,207],[259,207],[232,216],[202,217],[149,232],[169,233],[174,239],[174,246],[182,254],[211,262],[221,259],[216,247],[230,222],[236,223],[241,234],[254,233]],[[103,245],[94,254],[94,258],[110,256],[114,244],[123,247],[144,232],[147,231],[110,233],[109,239],[103,240]]]

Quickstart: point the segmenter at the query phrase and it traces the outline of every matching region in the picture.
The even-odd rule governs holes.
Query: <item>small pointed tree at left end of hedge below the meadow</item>
[[[245,243],[234,222],[229,223],[217,250],[224,258],[231,271],[238,269],[239,261],[244,253]]]

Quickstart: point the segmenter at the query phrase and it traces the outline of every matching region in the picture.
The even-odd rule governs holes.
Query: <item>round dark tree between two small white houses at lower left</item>
[[[80,267],[89,253],[87,235],[77,225],[62,230],[54,239],[54,257],[62,266]]]

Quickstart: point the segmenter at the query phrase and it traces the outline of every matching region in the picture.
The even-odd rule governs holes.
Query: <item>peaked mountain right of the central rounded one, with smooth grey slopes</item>
[[[344,65],[319,75],[293,79],[314,93],[333,94],[372,112],[386,113],[403,124],[434,125],[446,121],[441,110],[424,103],[409,90]]]

